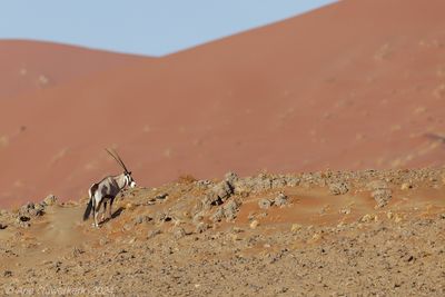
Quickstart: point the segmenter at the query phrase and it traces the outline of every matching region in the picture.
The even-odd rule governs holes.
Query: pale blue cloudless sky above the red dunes
[[[334,0],[0,0],[0,39],[162,56]]]

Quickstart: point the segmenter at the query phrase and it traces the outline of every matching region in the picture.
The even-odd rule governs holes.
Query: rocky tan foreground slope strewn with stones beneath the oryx
[[[85,201],[24,206],[0,215],[0,290],[443,296],[444,194],[444,168],[229,174],[126,191],[99,229]]]

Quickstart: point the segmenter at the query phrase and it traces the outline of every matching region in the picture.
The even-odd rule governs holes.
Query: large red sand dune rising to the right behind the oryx
[[[443,165],[443,11],[441,0],[340,1],[1,100],[0,201],[85,196],[120,171],[110,146],[141,186]]]

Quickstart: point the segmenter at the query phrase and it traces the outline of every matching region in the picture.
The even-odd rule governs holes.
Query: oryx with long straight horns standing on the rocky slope
[[[88,202],[87,209],[83,214],[83,220],[87,220],[90,216],[92,209],[92,216],[95,217],[95,226],[99,227],[98,224],[98,214],[101,205],[103,204],[103,214],[107,211],[107,202],[110,202],[110,207],[108,208],[108,216],[111,218],[111,207],[116,196],[122,189],[130,187],[135,188],[136,182],[131,177],[131,171],[128,171],[123,161],[120,159],[119,155],[115,151],[112,154],[108,149],[106,149],[108,154],[111,155],[112,158],[122,167],[123,174],[118,176],[108,176],[103,178],[101,181],[97,184],[92,184],[90,189],[88,190],[88,195],[90,197],[90,201]]]

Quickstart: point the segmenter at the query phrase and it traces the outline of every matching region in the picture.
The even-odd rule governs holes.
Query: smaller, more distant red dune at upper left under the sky
[[[140,59],[51,42],[1,40],[0,100],[51,88]]]

